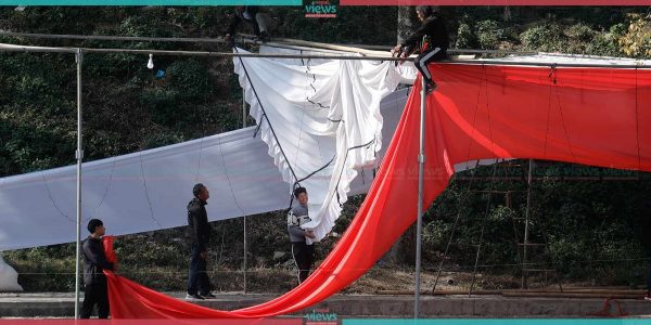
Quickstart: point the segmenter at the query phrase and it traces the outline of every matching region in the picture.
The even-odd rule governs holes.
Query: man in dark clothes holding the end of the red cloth
[[[108,289],[104,270],[117,270],[117,263],[106,261],[102,236],[106,229],[99,219],[88,222],[90,236],[81,243],[84,252],[84,304],[81,306],[81,318],[90,318],[92,309],[98,306],[98,317],[108,317]]]

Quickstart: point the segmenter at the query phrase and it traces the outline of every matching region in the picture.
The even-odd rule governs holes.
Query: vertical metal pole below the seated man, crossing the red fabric
[[[421,120],[420,145],[418,153],[418,219],[416,227],[416,301],[413,301],[413,317],[420,316],[420,269],[421,269],[421,237],[423,226],[423,172],[425,168],[425,78],[421,76]]]

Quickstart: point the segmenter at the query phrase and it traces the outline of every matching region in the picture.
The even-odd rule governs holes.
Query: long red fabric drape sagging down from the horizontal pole
[[[651,170],[651,70],[431,65],[424,207],[452,166],[480,158],[536,158]],[[108,274],[115,318],[266,317],[337,292],[382,257],[416,220],[420,82],[409,98],[382,168],[341,240],[301,286],[231,312],[175,300]]]

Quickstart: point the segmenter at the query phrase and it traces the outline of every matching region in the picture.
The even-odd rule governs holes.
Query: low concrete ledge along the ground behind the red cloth
[[[182,299],[184,294],[169,292]],[[273,299],[259,294],[220,294],[196,303],[220,310],[234,310]],[[605,316],[603,298],[522,298],[502,296],[421,296],[422,317],[596,317]],[[651,301],[617,299],[621,311],[631,317],[651,317]],[[302,316],[328,311],[339,317],[412,317],[413,296],[335,295],[295,313]],[[617,315],[616,302],[608,312]],[[0,317],[72,317],[74,294],[0,294]]]

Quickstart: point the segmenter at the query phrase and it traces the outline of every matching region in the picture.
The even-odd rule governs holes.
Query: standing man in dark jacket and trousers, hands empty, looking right
[[[210,226],[205,206],[208,204],[210,193],[204,184],[199,183],[192,188],[192,194],[194,194],[194,198],[188,204],[188,231],[192,243],[186,299],[215,298],[210,294],[210,281],[206,273]]]

